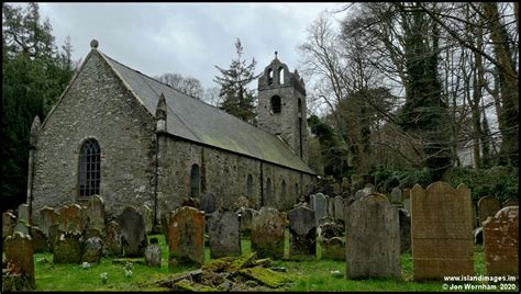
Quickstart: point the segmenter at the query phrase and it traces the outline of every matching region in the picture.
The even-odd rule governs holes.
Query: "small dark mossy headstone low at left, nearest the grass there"
[[[54,244],[54,263],[80,263],[82,256],[81,234],[78,231],[62,233]]]

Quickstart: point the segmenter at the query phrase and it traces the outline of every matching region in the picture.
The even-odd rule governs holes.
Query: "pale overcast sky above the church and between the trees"
[[[260,72],[278,52],[292,71],[297,46],[320,12],[340,3],[40,3],[56,44],[71,38],[73,58],[84,58],[92,38],[98,49],[148,76],[177,72],[213,87],[214,65],[228,68],[235,38]],[[253,88],[256,88],[256,83]]]

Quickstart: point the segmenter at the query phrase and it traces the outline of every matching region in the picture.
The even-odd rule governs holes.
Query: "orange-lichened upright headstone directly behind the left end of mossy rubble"
[[[170,214],[168,222],[168,267],[204,263],[204,213],[182,206]]]

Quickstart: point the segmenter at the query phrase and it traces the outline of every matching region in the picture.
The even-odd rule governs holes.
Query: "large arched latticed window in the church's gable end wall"
[[[79,195],[91,196],[100,193],[101,148],[96,139],[87,139],[79,151]]]

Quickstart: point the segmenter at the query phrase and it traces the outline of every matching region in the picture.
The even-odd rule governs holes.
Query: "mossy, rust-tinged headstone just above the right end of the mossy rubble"
[[[284,257],[284,228],[286,215],[276,208],[264,206],[254,212],[252,222],[252,249],[259,258]]]

